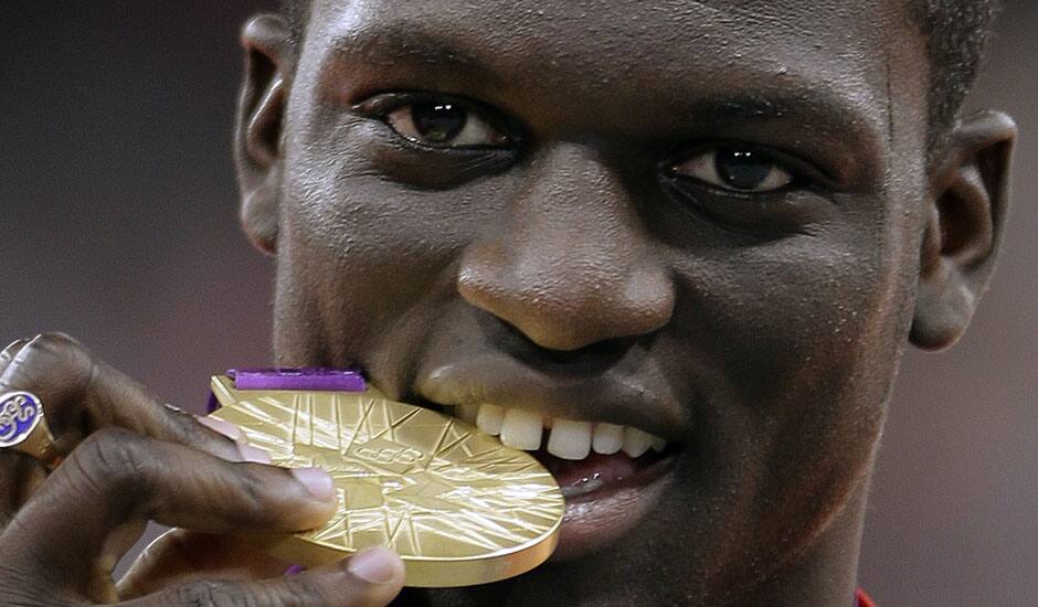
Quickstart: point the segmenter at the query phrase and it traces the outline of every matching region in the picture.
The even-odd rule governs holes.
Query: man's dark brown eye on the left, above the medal
[[[501,147],[511,139],[468,107],[453,102],[415,100],[385,115],[405,139],[435,148]]]

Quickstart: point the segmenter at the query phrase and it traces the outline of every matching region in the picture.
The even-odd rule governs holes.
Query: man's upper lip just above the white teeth
[[[439,405],[489,403],[542,415],[633,426],[670,443],[684,443],[686,409],[665,382],[606,372],[594,376],[546,374],[505,356],[484,355],[420,372],[413,394]]]

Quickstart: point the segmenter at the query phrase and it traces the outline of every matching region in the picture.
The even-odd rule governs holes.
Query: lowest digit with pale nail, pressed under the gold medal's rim
[[[250,583],[200,581],[123,605],[383,607],[400,594],[403,582],[404,566],[400,557],[389,549],[377,547],[299,575]]]

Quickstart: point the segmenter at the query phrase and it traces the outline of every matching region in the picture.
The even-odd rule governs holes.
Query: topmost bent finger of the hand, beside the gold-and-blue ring
[[[62,333],[44,333],[18,348],[0,373],[0,393],[11,390],[40,397],[55,445],[64,454],[92,432],[119,427],[225,459],[241,459],[233,436],[166,405]]]

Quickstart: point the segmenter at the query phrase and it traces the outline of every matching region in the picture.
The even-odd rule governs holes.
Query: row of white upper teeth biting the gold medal
[[[638,457],[649,448],[661,451],[667,446],[663,438],[631,426],[551,418],[528,409],[506,409],[490,404],[460,405],[455,415],[487,434],[500,435],[505,445],[527,451],[540,448],[541,435],[548,429],[548,452],[562,459],[584,459],[592,450],[612,455],[621,449],[631,457]]]

